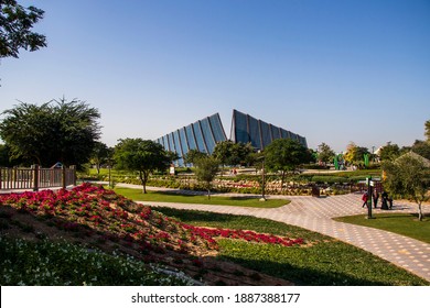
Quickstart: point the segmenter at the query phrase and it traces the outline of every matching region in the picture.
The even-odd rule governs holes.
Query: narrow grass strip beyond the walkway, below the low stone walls
[[[115,193],[130,198],[135,201],[152,201],[152,202],[178,202],[178,204],[198,204],[198,205],[218,205],[233,207],[250,207],[250,208],[279,208],[288,205],[290,200],[268,199],[260,201],[255,197],[215,197],[211,199],[207,196],[180,195],[175,193],[150,191],[143,194],[141,189],[132,188],[115,188]]]

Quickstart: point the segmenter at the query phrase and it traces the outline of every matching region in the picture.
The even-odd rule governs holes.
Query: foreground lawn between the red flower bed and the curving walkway
[[[373,286],[430,285],[407,271],[368,252],[302,228],[266,219],[157,208],[185,223],[213,228],[251,229],[291,238],[303,238],[308,246],[282,248],[221,240],[221,258],[284,278],[297,285]]]

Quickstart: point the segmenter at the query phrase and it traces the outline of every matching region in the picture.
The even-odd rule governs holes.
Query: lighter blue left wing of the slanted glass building
[[[183,157],[190,150],[198,150],[200,152],[212,154],[215,145],[226,140],[227,136],[221,122],[219,113],[215,113],[163,135],[155,142],[160,143],[166,151],[176,153],[180,158],[175,163],[179,166],[183,166]]]

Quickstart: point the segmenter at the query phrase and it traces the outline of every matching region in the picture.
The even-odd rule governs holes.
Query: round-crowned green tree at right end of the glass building
[[[291,139],[277,139],[264,152],[266,167],[281,173],[281,187],[288,173],[293,173],[301,164],[311,161],[310,152],[300,142]]]

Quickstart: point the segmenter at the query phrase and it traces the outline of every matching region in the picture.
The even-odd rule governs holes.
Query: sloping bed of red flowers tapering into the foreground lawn
[[[107,232],[110,240],[138,245],[140,251],[195,251],[200,246],[217,250],[217,238],[228,238],[284,246],[303,244],[302,239],[288,239],[252,231],[193,227],[140,206],[101,186],[83,184],[72,190],[0,196],[0,205],[53,220],[61,230],[71,232]],[[90,229],[83,228],[90,227]]]

